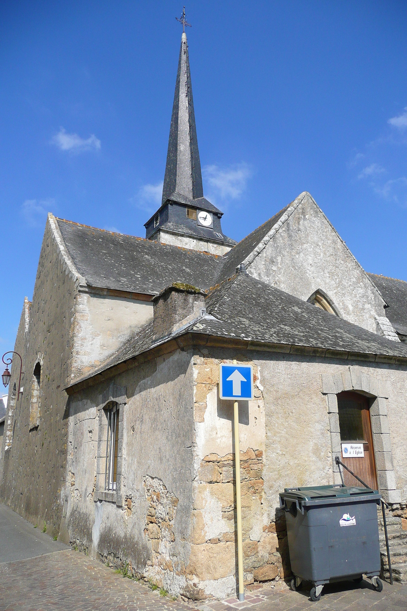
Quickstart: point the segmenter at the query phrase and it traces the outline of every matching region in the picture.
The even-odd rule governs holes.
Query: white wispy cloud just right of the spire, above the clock
[[[247,163],[239,163],[229,167],[205,166],[203,168],[209,189],[214,192],[215,199],[238,199],[245,188],[247,181],[253,174]]]

